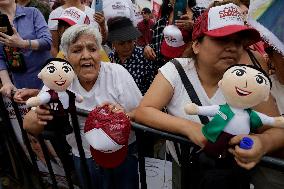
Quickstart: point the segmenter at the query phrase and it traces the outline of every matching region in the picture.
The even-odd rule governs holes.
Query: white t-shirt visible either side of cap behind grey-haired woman
[[[49,30],[57,30],[58,20],[51,20],[51,19],[60,17],[60,15],[62,14],[63,10],[64,9],[62,8],[62,6],[60,6],[60,7],[56,8],[56,9],[54,9],[53,11],[51,11],[51,13],[49,15],[49,18],[48,18],[48,28],[49,28]],[[95,11],[93,9],[91,9],[90,7],[88,7],[88,6],[85,6],[84,12],[89,17],[90,24],[95,25],[96,27],[98,27],[98,23],[94,19]]]

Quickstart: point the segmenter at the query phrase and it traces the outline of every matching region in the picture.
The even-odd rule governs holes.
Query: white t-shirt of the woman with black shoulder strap
[[[223,94],[221,93],[221,90],[219,88],[217,89],[213,97],[209,98],[207,96],[198,78],[193,59],[177,58],[177,60],[181,63],[188,79],[190,80],[203,106],[209,106],[214,104],[220,105],[226,103]],[[184,85],[174,64],[168,62],[159,70],[161,71],[163,76],[170,82],[174,90],[173,97],[170,103],[167,105],[167,110],[169,114],[177,117],[186,118],[195,122],[200,122],[199,117],[197,115],[187,115],[184,111],[184,106],[186,105],[186,103],[191,102],[191,100],[186,92],[186,89],[184,88]]]

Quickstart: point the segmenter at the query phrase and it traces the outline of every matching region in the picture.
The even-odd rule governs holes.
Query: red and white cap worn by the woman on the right
[[[238,32],[245,32],[246,46],[261,39],[256,29],[245,25],[240,8],[233,3],[228,3],[211,7],[198,17],[193,25],[192,40],[205,35],[218,38]]]

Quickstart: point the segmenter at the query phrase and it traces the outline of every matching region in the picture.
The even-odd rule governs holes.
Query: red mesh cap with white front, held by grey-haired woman
[[[115,168],[125,160],[130,129],[127,116],[122,112],[112,112],[107,105],[89,113],[84,132],[98,165]]]

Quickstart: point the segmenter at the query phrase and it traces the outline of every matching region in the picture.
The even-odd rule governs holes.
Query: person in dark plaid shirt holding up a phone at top
[[[153,27],[153,37],[149,45],[144,48],[144,56],[155,61],[157,67],[163,66],[166,62],[161,54],[161,44],[163,40],[163,30],[167,25],[175,24],[181,30],[191,31],[193,21],[204,11],[205,8],[196,7],[195,0],[189,0],[186,13],[173,23],[174,5],[176,0],[163,0],[161,5],[161,18]]]

